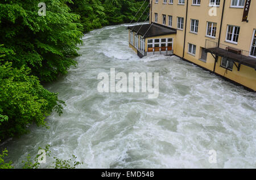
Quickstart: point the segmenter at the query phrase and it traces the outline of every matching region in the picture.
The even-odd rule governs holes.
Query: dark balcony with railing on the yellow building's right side
[[[238,62],[238,71],[241,65],[249,66],[256,71],[256,58],[250,57],[250,52],[246,50],[237,49],[225,44],[218,44],[213,40],[205,40],[205,49],[211,54],[215,54],[221,57],[231,59],[234,62]]]

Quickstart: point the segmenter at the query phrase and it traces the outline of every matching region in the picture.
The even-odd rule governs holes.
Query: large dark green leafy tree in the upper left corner
[[[76,65],[72,57],[81,43],[80,16],[70,13],[71,0],[45,0],[46,16],[38,15],[40,0],[0,0],[0,42],[13,53],[4,60],[30,67],[40,81],[55,80]]]

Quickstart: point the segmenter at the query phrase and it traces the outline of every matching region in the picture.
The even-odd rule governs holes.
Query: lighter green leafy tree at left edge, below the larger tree
[[[63,101],[57,93],[44,89],[30,69],[0,66],[0,139],[28,132],[27,127],[36,123],[46,126],[44,119],[55,109],[61,114]]]

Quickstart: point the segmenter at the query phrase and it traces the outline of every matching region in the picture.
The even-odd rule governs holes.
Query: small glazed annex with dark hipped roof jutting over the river
[[[176,29],[160,24],[129,26],[129,45],[139,57],[150,54],[174,54]]]

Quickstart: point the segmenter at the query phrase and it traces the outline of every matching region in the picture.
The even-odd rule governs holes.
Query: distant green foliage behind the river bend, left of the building
[[[143,5],[133,22],[147,19],[148,1],[144,0],[73,0],[72,11],[81,16],[84,32],[109,24],[130,23]],[[143,11],[145,13],[143,14]]]

